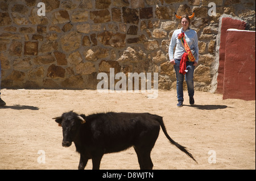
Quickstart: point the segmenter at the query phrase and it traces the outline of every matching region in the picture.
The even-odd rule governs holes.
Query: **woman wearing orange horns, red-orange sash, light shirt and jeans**
[[[194,13],[193,13],[194,15]],[[199,60],[199,47],[197,40],[196,31],[189,28],[191,23],[190,18],[193,15],[183,15],[180,17],[181,28],[175,30],[172,34],[170,46],[169,46],[169,57],[170,62],[174,65],[176,79],[177,79],[177,107],[183,106],[183,81],[185,75],[185,81],[187,82],[189,103],[192,105],[195,103],[194,96],[194,84],[193,74],[195,66]],[[176,45],[175,53],[174,47]]]

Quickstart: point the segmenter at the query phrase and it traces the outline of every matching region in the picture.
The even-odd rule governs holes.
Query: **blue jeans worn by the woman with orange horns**
[[[195,66],[193,65],[193,62],[186,62],[187,65],[187,70],[188,72],[185,74],[185,81],[187,82],[187,86],[188,86],[188,96],[189,97],[193,97],[194,96],[194,82],[193,82],[193,77],[194,77],[194,70],[195,70]],[[180,74],[180,60],[176,60],[175,59],[175,65],[174,65],[174,69],[176,72],[176,79],[177,79],[177,98],[178,101],[182,101],[183,102],[183,81],[184,81],[184,75]]]

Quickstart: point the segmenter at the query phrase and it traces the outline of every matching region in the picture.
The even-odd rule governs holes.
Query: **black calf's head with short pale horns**
[[[62,146],[69,147],[75,140],[81,124],[85,123],[85,116],[78,115],[75,112],[63,113],[60,117],[53,118],[63,129]]]

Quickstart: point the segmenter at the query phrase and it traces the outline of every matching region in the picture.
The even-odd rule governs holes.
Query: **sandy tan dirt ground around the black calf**
[[[0,169],[77,169],[75,145],[61,146],[62,129],[52,117],[63,112],[149,112],[163,116],[172,139],[187,147],[198,163],[171,145],[160,131],[151,152],[154,169],[255,169],[255,101],[222,100],[195,92],[190,106],[176,107],[176,91],[100,93],[96,90],[2,90]],[[88,161],[86,170],[92,169]],[[101,169],[139,169],[133,148],[105,154]]]

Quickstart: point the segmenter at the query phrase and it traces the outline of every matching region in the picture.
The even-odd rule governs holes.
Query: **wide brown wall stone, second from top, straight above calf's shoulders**
[[[94,23],[106,23],[110,22],[111,16],[109,10],[90,11],[90,19]]]

